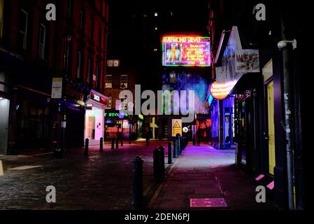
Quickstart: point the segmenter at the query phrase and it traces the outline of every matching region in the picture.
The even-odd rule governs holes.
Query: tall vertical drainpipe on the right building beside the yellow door
[[[283,41],[286,40],[283,25],[283,15],[281,16],[281,35]],[[290,47],[290,45],[288,45]],[[287,47],[288,47],[287,46]],[[291,95],[291,75],[290,71],[290,49],[284,48],[283,52],[283,102],[285,105],[285,139],[287,150],[287,191],[288,205],[290,210],[294,210],[294,148],[292,146],[292,99]]]

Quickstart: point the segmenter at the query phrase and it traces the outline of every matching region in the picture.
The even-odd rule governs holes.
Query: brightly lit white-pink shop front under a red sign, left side
[[[90,140],[90,146],[99,145],[100,138],[104,138],[104,113],[108,104],[108,97],[92,90],[86,102],[84,139]]]

